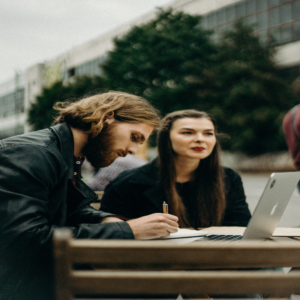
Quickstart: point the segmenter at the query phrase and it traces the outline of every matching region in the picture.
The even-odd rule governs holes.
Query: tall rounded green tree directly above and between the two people
[[[162,114],[200,109],[217,47],[199,21],[199,16],[160,10],[154,20],[115,39],[103,66],[107,86],[145,97]]]

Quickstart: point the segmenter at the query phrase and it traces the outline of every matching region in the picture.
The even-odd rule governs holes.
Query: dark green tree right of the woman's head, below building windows
[[[282,120],[296,99],[274,53],[272,40],[263,43],[241,20],[220,40],[208,110],[231,136],[223,148],[249,155],[287,149]]]

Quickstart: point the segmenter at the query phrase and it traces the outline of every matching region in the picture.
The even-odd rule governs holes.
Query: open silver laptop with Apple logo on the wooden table
[[[300,172],[272,173],[243,235],[208,234],[199,241],[270,238],[300,180]]]

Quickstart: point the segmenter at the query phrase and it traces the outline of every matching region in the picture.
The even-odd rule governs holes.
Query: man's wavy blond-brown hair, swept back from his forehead
[[[113,115],[119,122],[146,123],[154,128],[160,123],[158,110],[147,100],[124,92],[111,91],[77,102],[57,102],[54,109],[59,111],[55,124],[66,122],[91,137],[101,132],[107,116]]]

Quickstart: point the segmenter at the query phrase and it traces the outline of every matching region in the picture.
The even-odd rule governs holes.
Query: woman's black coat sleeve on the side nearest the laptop
[[[226,210],[222,226],[247,226],[251,214],[241,177],[225,168]]]

